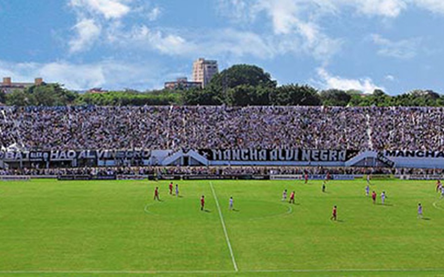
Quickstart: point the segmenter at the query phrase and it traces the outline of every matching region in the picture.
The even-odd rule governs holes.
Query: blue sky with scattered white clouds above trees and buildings
[[[198,57],[279,84],[444,93],[442,0],[0,0],[0,76],[161,88]]]

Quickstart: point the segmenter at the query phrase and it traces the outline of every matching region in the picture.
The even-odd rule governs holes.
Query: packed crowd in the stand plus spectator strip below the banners
[[[145,149],[170,151],[165,155],[171,156],[177,151],[199,149],[324,149],[355,153],[443,151],[443,113],[444,108],[434,107],[4,107],[0,115],[0,140],[4,153]],[[342,163],[326,163],[330,168],[325,169],[319,166],[322,164],[310,164],[310,161],[304,164],[310,167],[296,164],[291,167],[289,163],[270,163],[265,164],[266,167],[258,166],[260,163],[237,164],[237,167],[231,164],[209,166],[206,163],[188,163],[183,166],[182,160],[182,164],[171,163],[170,167],[159,167],[160,164],[152,161],[135,163],[134,159],[132,162],[119,163],[116,162],[116,156],[114,163],[104,161],[102,164],[89,160],[82,163],[80,159],[74,163],[69,159],[49,163],[47,157],[40,156],[36,156],[38,159],[26,156],[25,162],[20,157],[16,163],[4,165],[0,174],[266,175],[324,174],[326,171],[365,174],[371,166],[361,163],[354,168],[347,168]],[[390,168],[393,167],[390,163],[378,165],[382,167],[371,169],[371,172],[441,172],[437,169],[395,169]]]

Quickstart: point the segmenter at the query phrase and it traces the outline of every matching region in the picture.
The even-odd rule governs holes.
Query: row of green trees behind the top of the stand
[[[60,84],[43,84],[12,93],[0,93],[9,106],[63,105],[276,105],[276,106],[444,106],[444,95],[413,90],[390,96],[381,90],[364,95],[360,91],[322,90],[299,84],[278,86],[269,73],[255,65],[238,64],[216,74],[204,88],[188,90],[136,90],[76,93]]]

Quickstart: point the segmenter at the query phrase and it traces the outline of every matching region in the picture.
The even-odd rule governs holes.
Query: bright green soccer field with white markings
[[[0,183],[0,275],[444,274],[434,181],[375,180],[376,204],[364,180],[176,183],[180,197],[169,181]]]

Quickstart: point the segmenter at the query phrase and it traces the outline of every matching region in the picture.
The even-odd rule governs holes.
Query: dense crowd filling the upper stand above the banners
[[[0,143],[26,150],[443,150],[443,113],[432,107],[6,107]]]

